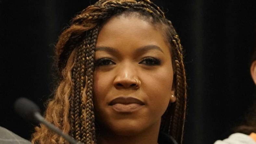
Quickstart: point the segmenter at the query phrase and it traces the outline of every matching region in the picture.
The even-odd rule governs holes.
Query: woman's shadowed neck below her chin
[[[113,132],[100,131],[97,143],[98,144],[158,144],[158,134],[160,122],[147,128],[143,132],[138,132],[131,135],[119,135]]]

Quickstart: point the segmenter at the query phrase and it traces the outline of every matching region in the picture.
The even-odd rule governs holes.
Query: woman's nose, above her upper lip
[[[131,66],[122,66],[116,72],[116,78],[113,81],[114,86],[117,89],[122,88],[134,88],[136,86],[136,79],[135,79],[135,68]]]

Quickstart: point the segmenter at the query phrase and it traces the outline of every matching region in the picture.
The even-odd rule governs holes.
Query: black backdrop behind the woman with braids
[[[185,144],[211,144],[228,137],[255,99],[249,71],[255,1],[154,2],[167,12],[186,51]],[[58,35],[89,4],[0,0],[0,126],[30,138],[34,126],[14,112],[13,102],[27,97],[45,110],[54,90],[52,57]]]

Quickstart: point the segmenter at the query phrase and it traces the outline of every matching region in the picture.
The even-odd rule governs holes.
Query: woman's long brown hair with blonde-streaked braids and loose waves
[[[61,81],[54,98],[48,103],[45,118],[80,142],[96,143],[93,73],[98,32],[109,18],[132,13],[139,13],[141,18],[164,29],[170,44],[176,102],[169,103],[161,118],[160,131],[182,143],[186,113],[183,50],[171,21],[149,0],[99,0],[73,18],[71,26],[60,35],[56,46]],[[32,143],[68,143],[43,125],[35,130]]]

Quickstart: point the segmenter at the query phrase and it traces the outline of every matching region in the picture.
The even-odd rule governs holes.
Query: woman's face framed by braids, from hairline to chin
[[[159,129],[173,94],[172,59],[161,30],[133,16],[113,17],[98,34],[95,56],[94,106],[100,127],[118,135]]]

